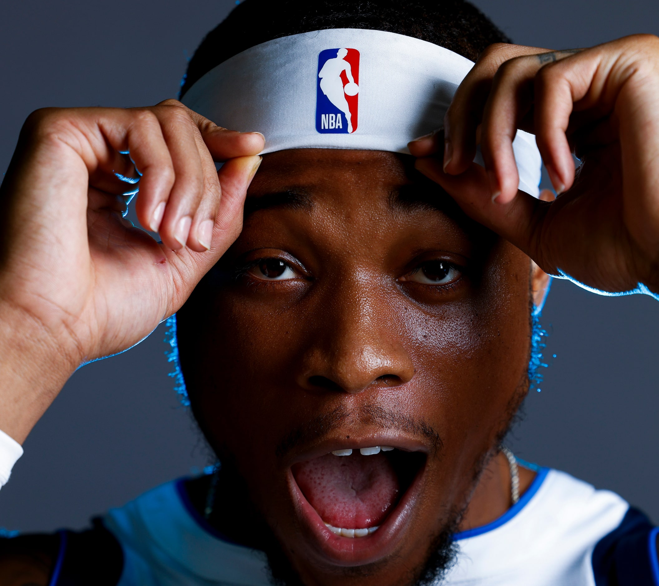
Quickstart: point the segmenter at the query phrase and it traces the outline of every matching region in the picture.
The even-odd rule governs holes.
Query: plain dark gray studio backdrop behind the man
[[[23,0],[0,15],[0,170],[43,106],[134,106],[173,97],[202,36],[233,0]],[[659,33],[656,0],[478,0],[521,44],[587,46]],[[257,16],[257,15],[255,15]],[[555,281],[542,392],[511,446],[532,461],[616,490],[659,521],[656,328],[649,297],[598,297]],[[163,328],[85,366],[26,440],[0,494],[0,527],[82,527],[88,517],[208,462],[167,378]],[[654,446],[654,447],[653,447]]]

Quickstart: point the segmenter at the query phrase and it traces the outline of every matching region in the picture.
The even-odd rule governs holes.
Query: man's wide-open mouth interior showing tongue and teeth
[[[334,450],[291,467],[326,527],[349,539],[374,536],[424,467],[426,454],[393,446]]]

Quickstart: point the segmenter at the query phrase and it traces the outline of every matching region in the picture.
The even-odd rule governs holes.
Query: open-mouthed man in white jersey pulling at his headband
[[[72,374],[161,323],[212,458],[80,530],[3,530],[0,586],[659,586],[648,513],[507,443],[552,278],[656,320],[643,32],[244,0],[177,99],[33,111],[0,188],[0,485]]]

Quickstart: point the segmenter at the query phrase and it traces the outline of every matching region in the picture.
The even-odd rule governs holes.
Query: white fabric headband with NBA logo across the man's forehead
[[[262,132],[263,153],[351,148],[409,154],[408,142],[443,127],[473,65],[449,49],[393,32],[317,30],[234,55],[196,81],[183,103],[225,128]],[[537,197],[535,137],[517,131],[513,150],[519,189]],[[476,161],[482,164],[480,154]]]

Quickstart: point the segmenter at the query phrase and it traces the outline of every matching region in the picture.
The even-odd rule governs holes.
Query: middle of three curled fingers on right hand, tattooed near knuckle
[[[545,65],[572,54],[572,51],[549,51],[515,57],[503,63],[494,76],[483,114],[481,142],[492,200],[506,204],[517,194],[519,176],[513,140],[519,123],[532,108],[536,74]],[[569,155],[569,147],[567,153]],[[555,189],[558,187],[554,185]]]

